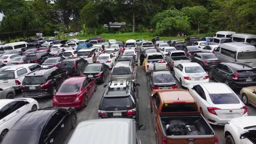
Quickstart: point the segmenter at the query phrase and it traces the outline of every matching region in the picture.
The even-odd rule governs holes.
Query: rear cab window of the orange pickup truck
[[[164,104],[162,112],[195,112],[197,111],[196,104]]]

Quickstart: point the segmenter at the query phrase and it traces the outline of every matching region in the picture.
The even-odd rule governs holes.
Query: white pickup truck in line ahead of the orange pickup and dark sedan
[[[146,73],[151,70],[167,70],[168,63],[160,52],[152,52],[146,55],[145,67]]]

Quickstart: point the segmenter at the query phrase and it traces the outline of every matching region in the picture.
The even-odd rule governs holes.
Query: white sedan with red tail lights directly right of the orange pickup
[[[214,125],[224,125],[232,118],[247,116],[247,107],[225,83],[210,82],[188,86],[202,115]]]

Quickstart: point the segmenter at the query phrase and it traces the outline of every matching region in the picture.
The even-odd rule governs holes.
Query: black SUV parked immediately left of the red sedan
[[[31,71],[22,82],[22,95],[29,98],[53,97],[66,78],[66,71],[56,67]]]

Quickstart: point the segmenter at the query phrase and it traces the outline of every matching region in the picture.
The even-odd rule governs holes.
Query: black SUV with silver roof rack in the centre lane
[[[100,106],[99,118],[133,118],[139,122],[138,86],[133,81],[112,81],[106,85]]]

